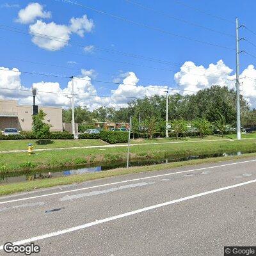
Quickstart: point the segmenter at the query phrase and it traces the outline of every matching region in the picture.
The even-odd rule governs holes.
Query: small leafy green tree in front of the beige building
[[[50,134],[51,125],[44,123],[44,118],[46,115],[47,114],[40,109],[37,115],[32,116],[32,131],[39,140],[48,138]]]

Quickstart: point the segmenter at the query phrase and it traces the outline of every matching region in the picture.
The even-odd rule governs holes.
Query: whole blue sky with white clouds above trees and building
[[[256,2],[1,0],[0,99],[122,108],[135,98],[235,88],[256,108]]]

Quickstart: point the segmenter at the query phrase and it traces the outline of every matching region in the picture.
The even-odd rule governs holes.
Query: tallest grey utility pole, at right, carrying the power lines
[[[238,36],[238,19],[236,18],[236,128],[237,140],[241,140],[240,124],[240,89],[239,89],[239,36]]]

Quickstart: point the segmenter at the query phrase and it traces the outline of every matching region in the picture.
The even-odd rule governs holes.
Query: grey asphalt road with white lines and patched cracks
[[[3,251],[7,241],[68,256],[216,256],[223,246],[253,246],[255,164],[246,158],[1,197],[0,255],[17,255]]]

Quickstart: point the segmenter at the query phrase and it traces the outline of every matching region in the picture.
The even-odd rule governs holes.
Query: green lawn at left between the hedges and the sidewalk
[[[32,143],[34,148],[67,148],[108,145],[108,143],[96,139],[51,140],[51,143],[47,145],[38,145],[36,141],[37,140],[0,140],[0,151],[28,149],[28,143]]]

